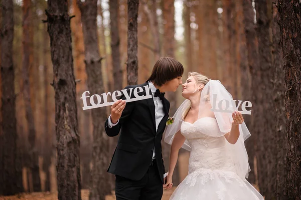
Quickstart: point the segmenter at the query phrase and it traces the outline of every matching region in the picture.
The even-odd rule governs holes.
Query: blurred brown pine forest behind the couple
[[[220,80],[233,99],[252,102],[245,116],[248,181],[265,199],[300,199],[300,1],[0,5],[3,198],[113,198],[114,176],[106,170],[118,137],[104,132],[109,107],[83,111],[80,97],[141,84],[160,57],[171,56],[185,67],[183,81],[200,72]],[[167,99],[173,115],[184,99],[180,91]],[[170,146],[162,145],[168,167]],[[174,186],[187,175],[188,158],[182,149]]]

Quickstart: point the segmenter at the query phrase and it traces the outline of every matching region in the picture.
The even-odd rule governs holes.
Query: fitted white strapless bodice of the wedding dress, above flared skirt
[[[192,148],[189,158],[189,173],[197,169],[218,169],[235,171],[234,164],[226,148],[224,136],[213,137],[219,130],[217,121],[212,117],[198,119],[195,123],[183,122],[181,133]]]

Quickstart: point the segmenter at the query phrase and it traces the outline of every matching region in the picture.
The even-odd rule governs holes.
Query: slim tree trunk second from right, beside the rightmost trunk
[[[281,35],[279,27],[278,1],[273,4],[273,18],[272,18],[272,34],[273,34],[273,100],[275,110],[275,168],[276,168],[276,183],[275,190],[272,192],[274,199],[285,199],[287,194],[287,170],[286,170],[286,155],[287,155],[287,137],[285,124],[285,82],[283,74],[283,58],[281,51]]]

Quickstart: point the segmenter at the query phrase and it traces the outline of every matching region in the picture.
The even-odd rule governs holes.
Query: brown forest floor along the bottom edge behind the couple
[[[162,200],[169,200],[173,191],[176,187],[170,190],[164,190]],[[89,199],[89,190],[83,189],[82,192],[82,200]],[[57,200],[57,193],[51,192],[33,192],[33,193],[21,193],[19,195],[14,196],[0,196],[0,200]],[[115,200],[115,195],[106,196],[105,200]]]

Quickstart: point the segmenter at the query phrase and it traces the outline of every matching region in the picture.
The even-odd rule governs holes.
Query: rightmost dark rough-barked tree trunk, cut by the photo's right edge
[[[298,0],[279,0],[280,33],[285,80],[287,199],[301,196],[301,5]]]

